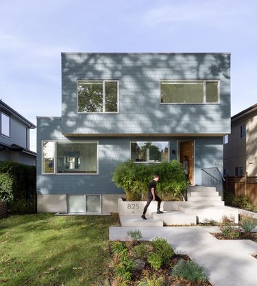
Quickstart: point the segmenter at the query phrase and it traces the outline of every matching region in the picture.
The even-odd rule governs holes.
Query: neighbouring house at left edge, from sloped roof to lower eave
[[[36,166],[36,152],[29,147],[29,131],[36,126],[0,100],[0,160]]]

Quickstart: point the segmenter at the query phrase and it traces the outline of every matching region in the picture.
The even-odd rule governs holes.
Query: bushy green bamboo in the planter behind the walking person
[[[182,164],[177,160],[158,164],[126,161],[115,167],[112,182],[125,191],[127,200],[145,200],[149,182],[154,174],[160,176],[157,191],[162,197],[172,194],[173,198],[180,199],[186,191],[188,182],[184,176]]]

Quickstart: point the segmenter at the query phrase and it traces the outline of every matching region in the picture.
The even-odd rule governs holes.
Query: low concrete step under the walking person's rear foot
[[[163,226],[161,219],[153,219],[147,215],[147,219],[142,219],[141,215],[119,215],[121,226]]]

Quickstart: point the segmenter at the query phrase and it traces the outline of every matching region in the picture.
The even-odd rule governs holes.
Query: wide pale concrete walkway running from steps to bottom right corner
[[[141,240],[167,239],[177,254],[187,254],[206,269],[212,286],[256,286],[257,243],[250,240],[219,240],[217,226],[110,227],[110,240],[127,240],[129,230],[140,230]],[[256,229],[257,231],[257,229]]]

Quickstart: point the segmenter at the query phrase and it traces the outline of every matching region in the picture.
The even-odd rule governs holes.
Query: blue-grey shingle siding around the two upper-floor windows
[[[77,79],[119,80],[119,114],[77,114]],[[219,104],[160,104],[160,80],[214,79]],[[230,54],[62,53],[62,104],[64,134],[228,134]]]

